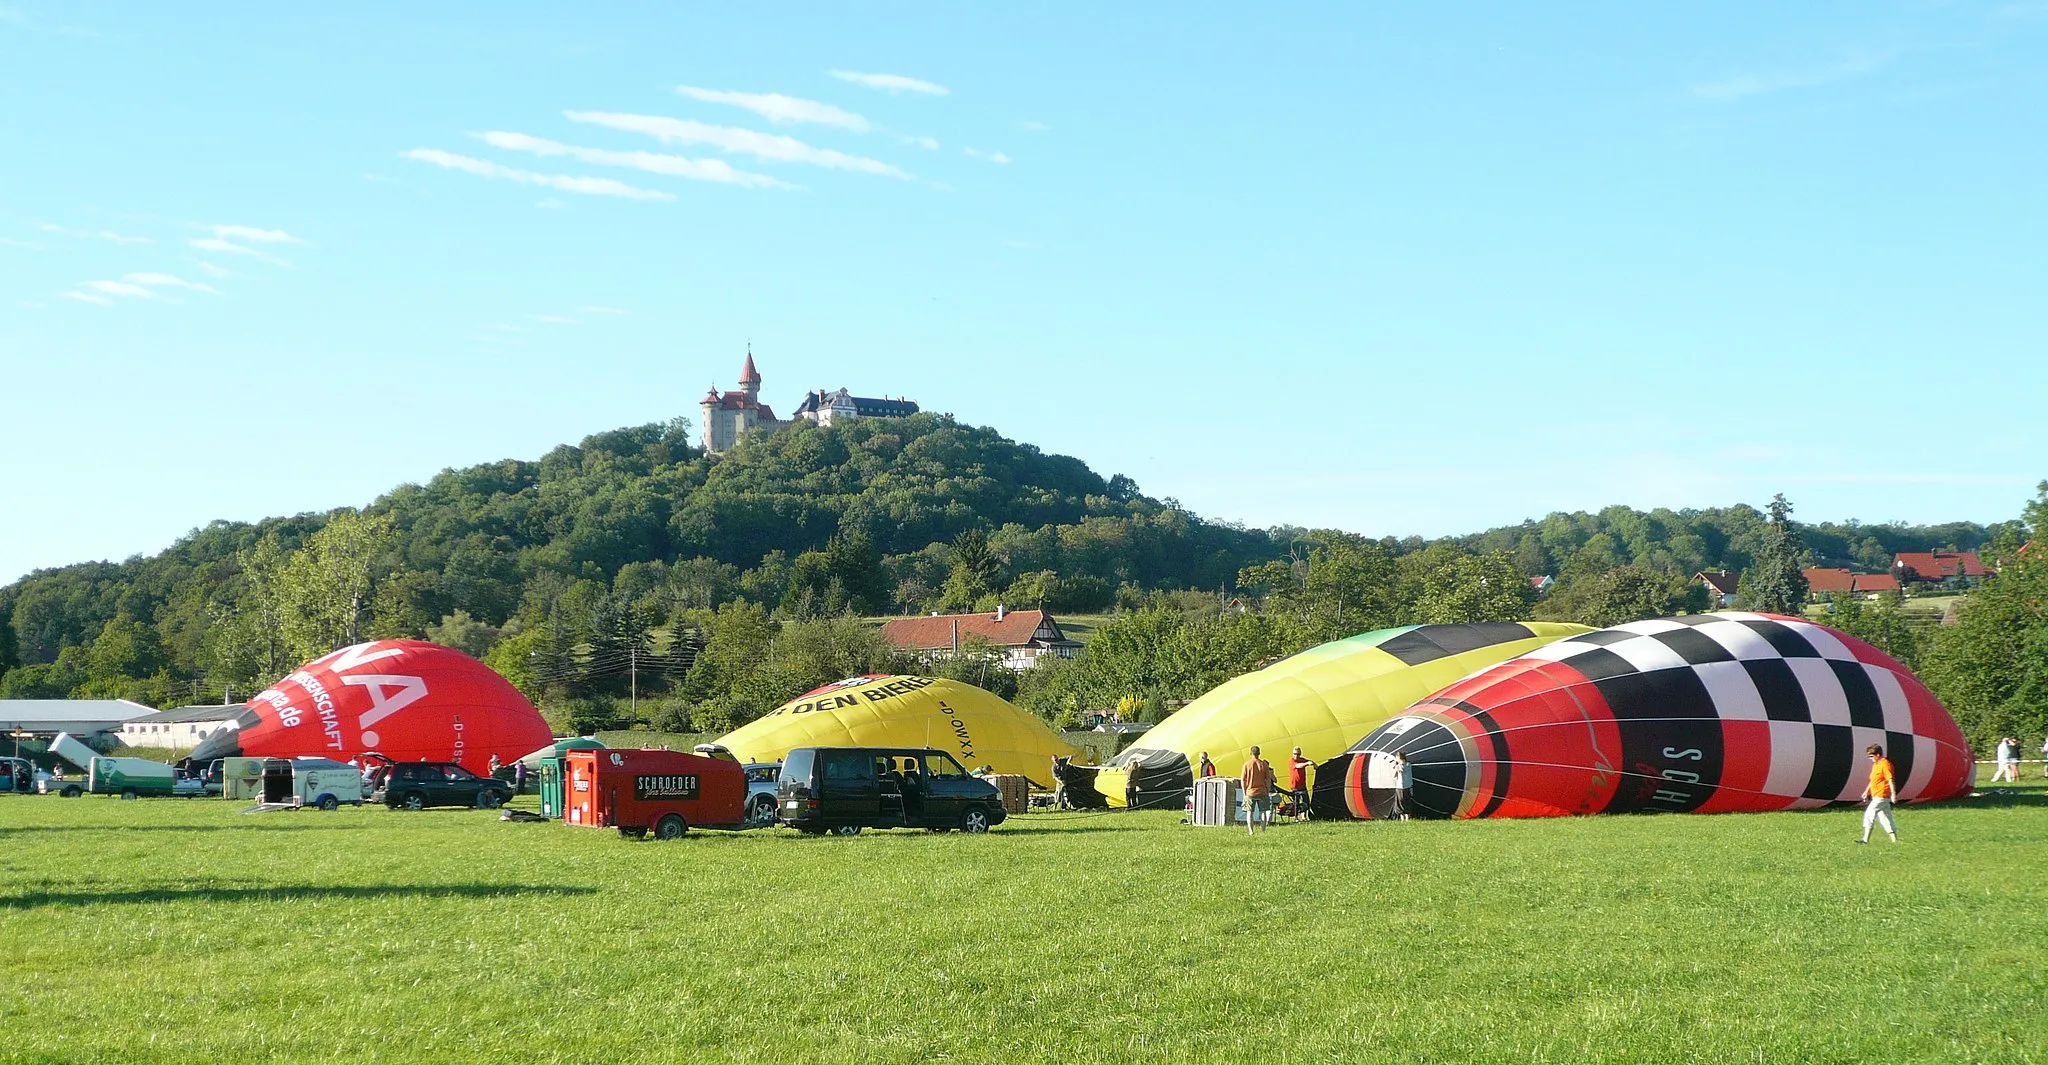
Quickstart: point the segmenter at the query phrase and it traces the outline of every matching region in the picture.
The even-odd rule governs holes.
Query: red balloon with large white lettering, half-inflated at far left
[[[356,758],[512,762],[545,748],[541,711],[489,666],[438,643],[377,639],[315,657],[248,702],[233,731],[209,737],[195,760]]]

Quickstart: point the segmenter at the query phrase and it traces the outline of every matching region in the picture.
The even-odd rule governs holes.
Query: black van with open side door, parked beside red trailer
[[[930,748],[797,748],[776,778],[782,823],[807,834],[864,827],[987,832],[1004,823],[995,784]]]

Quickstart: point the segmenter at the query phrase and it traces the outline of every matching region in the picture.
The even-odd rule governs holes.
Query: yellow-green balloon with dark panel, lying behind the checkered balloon
[[[1544,621],[1403,625],[1309,647],[1188,702],[1112,758],[1096,789],[1124,805],[1135,776],[1141,805],[1157,797],[1157,805],[1178,809],[1202,752],[1219,774],[1237,776],[1253,745],[1282,772],[1298,745],[1317,762],[1319,813],[1343,817],[1348,748],[1374,725],[1473,670],[1579,633],[1591,629]]]

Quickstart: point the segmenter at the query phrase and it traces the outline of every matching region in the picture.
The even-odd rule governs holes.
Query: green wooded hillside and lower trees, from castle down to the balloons
[[[1802,559],[1882,569],[1890,551],[1972,549],[1999,528],[1796,532]],[[360,512],[215,522],[152,557],[31,573],[0,588],[0,696],[244,698],[344,641],[410,635],[489,655],[584,721],[651,694],[670,723],[711,723],[829,668],[901,666],[846,627],[803,629],[813,621],[997,602],[1174,614],[1104,631],[1104,651],[1165,641],[1147,651],[1155,666],[1049,670],[1018,690],[1051,717],[1190,698],[1380,625],[1698,608],[1694,571],[1747,569],[1772,537],[1749,506],[1614,506],[1434,543],[1251,530],[944,416],[801,422],[717,459],[676,420],[446,469]],[[1556,590],[1538,600],[1532,576]]]

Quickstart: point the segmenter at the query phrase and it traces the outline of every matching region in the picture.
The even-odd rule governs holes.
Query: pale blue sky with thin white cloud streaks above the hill
[[[2003,520],[2048,2],[0,0],[0,580],[764,399],[1198,514]]]

